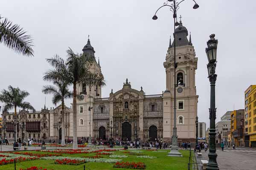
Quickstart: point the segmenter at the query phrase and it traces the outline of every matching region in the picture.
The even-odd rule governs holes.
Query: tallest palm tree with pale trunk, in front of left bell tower
[[[73,149],[77,149],[77,108],[76,99],[80,98],[76,92],[76,85],[84,82],[87,85],[105,85],[103,78],[90,73],[92,58],[84,54],[75,54],[70,48],[67,50],[67,61],[64,63],[58,57],[47,60],[55,68],[59,68],[65,74],[58,74],[58,79],[65,79],[73,85]]]

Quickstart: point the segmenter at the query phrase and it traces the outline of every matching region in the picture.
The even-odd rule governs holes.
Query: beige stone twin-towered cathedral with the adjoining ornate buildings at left
[[[128,79],[123,82],[122,89],[115,92],[112,90],[109,96],[104,98],[101,86],[88,86],[84,83],[76,86],[78,93],[84,96],[82,100],[77,100],[78,138],[91,136],[93,139],[109,139],[112,135],[113,139],[139,138],[141,141],[163,139],[171,142],[174,119],[176,119],[178,141],[195,142],[195,117],[198,103],[195,70],[198,58],[195,57],[191,36],[188,40],[188,31],[181,21],[175,32],[177,68],[174,72],[174,42],[170,39],[166,61],[163,63],[166,69],[166,89],[162,94],[145,95],[142,87],[133,89]],[[101,66],[99,61],[96,61],[95,51],[89,39],[82,51],[87,56],[93,57],[90,71],[103,78]],[[175,89],[177,92],[176,117],[173,113]],[[65,139],[72,139],[72,112],[71,108],[66,107],[64,120],[61,120],[60,106],[50,110],[44,108],[40,113],[20,111],[17,115],[20,115],[20,122],[25,124],[25,137],[41,136],[40,138],[44,139],[61,139],[61,122],[64,121]],[[8,124],[7,136],[11,138],[12,114],[8,112],[2,114],[3,122]],[[29,115],[42,116],[29,118]],[[29,126],[37,127],[34,128],[37,131],[33,131],[33,128],[29,130]]]

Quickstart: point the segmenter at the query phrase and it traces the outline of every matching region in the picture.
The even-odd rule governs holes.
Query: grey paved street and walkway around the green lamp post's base
[[[208,153],[204,150],[201,151],[202,158],[197,158],[198,163],[200,160],[209,160]],[[256,149],[251,148],[217,148],[217,163],[220,170],[256,170]],[[197,156],[197,154],[196,154]],[[199,165],[199,170],[201,166]]]

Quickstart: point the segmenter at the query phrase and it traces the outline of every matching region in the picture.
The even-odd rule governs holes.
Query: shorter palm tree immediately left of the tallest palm
[[[60,57],[58,57],[60,58]],[[63,60],[63,59],[61,59]],[[45,85],[43,86],[42,92],[44,94],[53,94],[52,103],[57,105],[58,102],[61,102],[61,146],[65,145],[65,127],[64,127],[64,99],[71,98],[72,92],[68,89],[68,82],[65,82],[64,79],[59,79],[61,69],[55,68],[53,71],[47,71],[44,75],[44,81],[53,81],[54,85]]]

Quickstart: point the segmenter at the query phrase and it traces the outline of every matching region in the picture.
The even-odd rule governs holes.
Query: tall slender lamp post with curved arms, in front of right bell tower
[[[174,79],[176,79],[176,34],[175,34],[175,26],[179,26],[179,23],[177,22],[177,10],[180,8],[180,3],[182,3],[184,0],[181,0],[180,2],[177,2],[177,0],[167,0],[165,3],[163,3],[163,7],[169,7],[170,11],[173,13],[174,18]],[[193,0],[195,2],[195,0]],[[170,2],[170,4],[169,4]],[[199,5],[195,2],[195,5],[193,6],[194,9],[197,9]],[[157,11],[160,9],[158,8]],[[157,11],[155,12],[154,16],[152,17],[153,20],[157,20]],[[174,83],[175,84],[175,83]],[[174,85],[174,123],[173,123],[173,134],[172,134],[172,147],[171,151],[168,153],[168,156],[182,156],[181,153],[178,152],[178,136],[177,136],[177,127],[176,127],[176,84]]]

